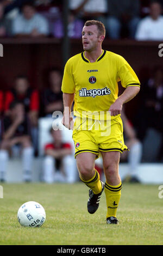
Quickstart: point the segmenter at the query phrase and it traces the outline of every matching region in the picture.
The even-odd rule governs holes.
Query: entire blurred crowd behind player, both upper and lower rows
[[[163,1],[148,2],[125,0],[120,4],[116,0],[70,0],[68,35],[81,38],[84,22],[98,19],[105,24],[106,37],[110,39],[162,40]],[[0,1],[0,36],[62,38],[62,1]],[[9,90],[0,90],[1,181],[5,180],[11,149],[17,145],[21,145],[24,181],[30,181],[32,160],[38,156],[39,118],[52,117],[54,111],[63,111],[61,81],[62,70],[54,67],[48,73],[48,86],[41,92],[31,87],[28,77],[24,75],[16,76]],[[138,181],[136,170],[141,161],[163,162],[161,67],[154,67],[147,80],[143,81],[139,97],[139,108],[132,120],[128,120],[125,111],[122,113],[124,138],[130,151],[123,154],[121,161],[129,162],[133,181]],[[76,169],[74,159],[70,157],[72,145],[62,142],[59,131],[50,130],[49,133],[52,135],[52,143],[45,145],[44,149],[43,181],[74,182]],[[58,175],[57,170],[62,170],[61,175]],[[55,178],[54,172],[57,174]]]

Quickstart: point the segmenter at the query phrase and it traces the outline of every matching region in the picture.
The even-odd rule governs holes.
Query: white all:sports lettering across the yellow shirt
[[[108,87],[102,88],[102,89],[90,89],[87,90],[86,88],[82,88],[79,90],[79,96],[80,97],[96,97],[96,96],[103,96],[103,95],[109,95],[111,93],[111,90]]]

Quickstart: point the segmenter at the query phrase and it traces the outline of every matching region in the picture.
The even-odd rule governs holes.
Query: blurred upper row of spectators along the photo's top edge
[[[0,36],[62,38],[63,1],[1,0]],[[100,20],[110,39],[162,40],[162,0],[69,0],[68,35],[80,38],[86,20]]]

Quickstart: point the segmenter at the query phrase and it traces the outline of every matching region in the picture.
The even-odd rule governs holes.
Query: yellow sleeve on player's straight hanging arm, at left
[[[72,66],[70,60],[68,60],[65,65],[61,90],[63,93],[75,93],[75,83],[72,75]]]

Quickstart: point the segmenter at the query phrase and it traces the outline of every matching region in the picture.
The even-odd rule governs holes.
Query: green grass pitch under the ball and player
[[[0,245],[162,245],[163,199],[158,186],[123,184],[117,210],[119,225],[106,225],[105,194],[98,211],[86,209],[88,188],[65,184],[4,184],[0,199]],[[34,200],[43,205],[46,222],[24,228],[17,210]]]

